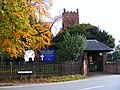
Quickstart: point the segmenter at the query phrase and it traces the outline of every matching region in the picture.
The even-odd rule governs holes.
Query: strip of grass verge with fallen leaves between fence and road
[[[1,86],[14,86],[18,83],[50,83],[50,82],[65,82],[65,81],[72,81],[72,80],[80,80],[80,79],[84,79],[87,78],[87,76],[85,75],[80,75],[80,74],[76,74],[76,75],[64,75],[64,76],[41,76],[38,79],[35,78],[31,78],[31,79],[21,79],[21,80],[13,80],[13,82],[11,83],[0,83],[0,87]]]

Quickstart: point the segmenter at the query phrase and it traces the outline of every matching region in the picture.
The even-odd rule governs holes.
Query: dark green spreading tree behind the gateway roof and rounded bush
[[[86,39],[97,39],[111,48],[114,48],[115,46],[115,40],[112,35],[109,35],[107,32],[105,32],[105,30],[101,30],[99,27],[93,26],[91,24],[80,24],[68,27],[54,38],[54,42],[62,41],[66,31],[68,31],[71,35],[85,35]]]

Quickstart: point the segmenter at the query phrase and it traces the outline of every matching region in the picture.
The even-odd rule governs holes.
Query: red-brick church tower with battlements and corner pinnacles
[[[66,11],[63,9],[62,13],[62,29],[66,29],[69,26],[73,26],[75,24],[79,24],[79,11],[76,9],[75,11]]]

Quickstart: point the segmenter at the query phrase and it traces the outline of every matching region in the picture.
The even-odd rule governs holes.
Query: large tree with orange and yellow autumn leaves
[[[37,51],[51,45],[51,23],[44,20],[50,6],[51,2],[43,0],[0,0],[3,57],[16,58],[23,56],[26,48]]]

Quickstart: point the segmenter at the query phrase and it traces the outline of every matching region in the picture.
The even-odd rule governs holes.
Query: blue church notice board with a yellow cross
[[[54,61],[54,50],[40,50],[40,61]]]

